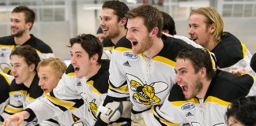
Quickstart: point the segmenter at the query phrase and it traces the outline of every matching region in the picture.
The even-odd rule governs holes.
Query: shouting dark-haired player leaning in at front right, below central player
[[[162,106],[152,107],[146,125],[225,125],[228,105],[249,93],[254,78],[214,68],[208,50],[180,51],[175,65],[177,84]]]

